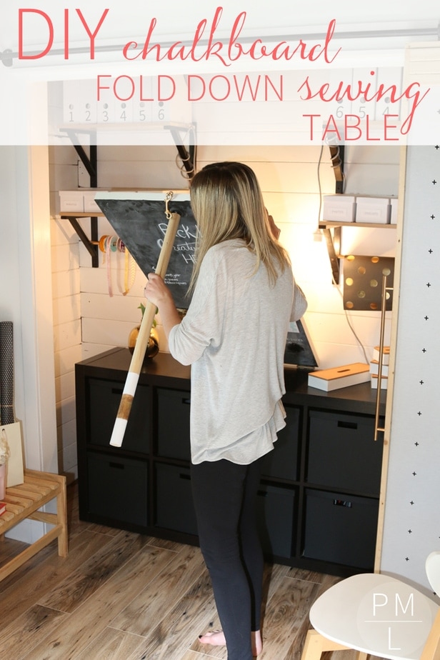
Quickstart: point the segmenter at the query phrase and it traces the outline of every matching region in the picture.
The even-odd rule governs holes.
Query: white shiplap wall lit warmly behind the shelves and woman
[[[281,228],[281,241],[289,250],[294,274],[309,300],[306,324],[319,365],[325,368],[364,361],[364,353],[347,323],[341,291],[331,282],[326,242],[316,232],[319,179],[322,194],[332,194],[335,189],[329,151],[324,148],[318,167],[320,151],[317,146],[201,146],[197,153],[197,167],[200,169],[211,161],[239,160],[256,171],[266,206]],[[68,146],[52,149],[51,154],[52,209],[56,214],[59,212],[56,190],[75,189],[78,185],[77,156],[73,147]],[[184,189],[186,181],[176,167],[175,157],[174,147],[101,147],[98,149],[99,187]],[[399,148],[346,147],[345,169],[347,193],[398,193]],[[87,185],[87,181],[81,180],[81,185]],[[85,220],[83,224],[89,233],[89,221]],[[81,359],[80,354],[85,358],[112,346],[126,346],[129,331],[139,324],[141,318],[137,308],[144,299],[145,278],[136,269],[134,284],[124,296],[123,254],[111,254],[108,269],[106,255],[100,253],[99,268],[93,269],[89,253],[79,244],[69,222],[53,220],[52,226],[55,334],[59,346],[56,359],[60,396],[59,456],[64,469],[76,474],[71,462],[74,458],[74,437],[71,434],[74,430],[71,417],[74,361]],[[106,219],[99,219],[99,236],[113,233]],[[344,229],[343,247],[346,253],[393,256],[395,239],[393,230],[350,227]],[[379,313],[351,312],[350,320],[370,359],[379,340]],[[160,319],[158,329],[161,350],[166,350]],[[389,319],[386,334],[389,335]]]

